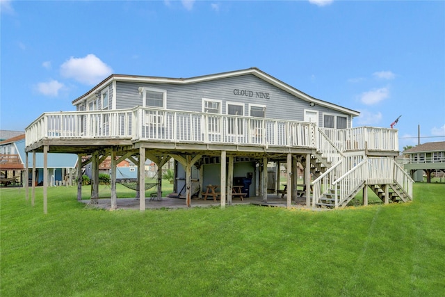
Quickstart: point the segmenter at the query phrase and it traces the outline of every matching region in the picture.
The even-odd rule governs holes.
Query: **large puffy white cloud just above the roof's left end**
[[[60,66],[60,74],[63,77],[75,79],[87,85],[95,85],[111,73],[113,69],[94,54],[83,58],[71,57]]]

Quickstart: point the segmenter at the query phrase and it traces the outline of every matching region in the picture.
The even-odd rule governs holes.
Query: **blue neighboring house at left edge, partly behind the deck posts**
[[[4,130],[3,130],[4,131]],[[75,154],[48,154],[48,184],[58,186],[72,184],[76,177]],[[35,154],[35,184],[43,184],[43,154]],[[32,156],[28,160],[28,168],[33,168]],[[25,134],[15,136],[0,142],[0,170],[3,185],[23,185],[31,182],[32,170],[26,176]]]

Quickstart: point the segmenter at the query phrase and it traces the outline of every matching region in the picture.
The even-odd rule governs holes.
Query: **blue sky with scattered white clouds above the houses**
[[[1,129],[24,130],[109,74],[258,67],[389,127],[445,141],[445,1],[7,1]],[[430,136],[430,138],[427,138]]]

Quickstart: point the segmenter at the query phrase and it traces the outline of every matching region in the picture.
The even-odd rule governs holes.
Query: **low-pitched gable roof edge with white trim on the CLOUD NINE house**
[[[83,99],[86,99],[90,95],[94,94],[96,90],[99,90],[100,88],[103,88],[104,86],[108,85],[112,81],[131,81],[131,82],[141,82],[141,83],[172,83],[172,84],[188,84],[188,83],[199,83],[203,81],[212,81],[216,79],[225,79],[227,77],[238,77],[241,75],[246,74],[253,74],[255,77],[258,77],[259,79],[263,79],[264,81],[267,81],[268,83],[272,84],[273,86],[276,86],[277,88],[280,88],[284,90],[287,93],[290,93],[291,95],[294,95],[300,99],[303,99],[309,103],[314,103],[320,106],[325,106],[329,109],[334,109],[337,111],[341,111],[343,113],[347,113],[352,115],[353,117],[360,115],[359,111],[354,111],[353,109],[348,109],[343,106],[339,106],[337,104],[333,104],[330,102],[323,101],[321,99],[317,99],[315,97],[312,97],[310,95],[307,95],[306,93],[303,93],[302,91],[293,88],[293,86],[290,86],[287,83],[284,83],[283,81],[280,81],[279,79],[276,79],[275,77],[270,76],[266,72],[263,72],[259,70],[257,67],[252,67],[244,70],[236,70],[231,72],[222,72],[217,74],[209,74],[204,75],[200,77],[191,77],[188,79],[174,79],[174,78],[168,78],[168,77],[147,77],[147,76],[137,76],[137,75],[125,75],[125,74],[111,74],[109,77],[104,79],[101,83],[99,83],[97,86],[89,90],[87,93],[82,95],[81,97],[78,97],[72,101],[73,105],[78,104]]]

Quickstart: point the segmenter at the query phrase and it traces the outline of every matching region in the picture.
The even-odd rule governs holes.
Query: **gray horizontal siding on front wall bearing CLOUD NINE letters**
[[[323,125],[323,113],[346,115],[339,111],[327,109],[322,106],[309,106],[309,102],[295,97],[270,83],[246,74],[238,77],[229,77],[213,81],[204,81],[189,84],[168,83],[129,83],[118,82],[116,86],[117,109],[129,109],[142,106],[142,95],[139,87],[156,88],[167,91],[167,109],[182,111],[202,111],[202,99],[217,99],[222,102],[222,113],[226,114],[226,102],[237,102],[244,104],[244,115],[249,115],[248,104],[260,104],[266,106],[266,118],[282,120],[304,120],[304,110],[318,111],[318,125]],[[111,88],[110,88],[111,89]],[[234,90],[250,90],[251,97],[235,95]],[[256,97],[255,93],[268,93],[269,99]],[[112,92],[110,93],[112,94]],[[350,116],[348,116],[348,127],[350,127]]]

